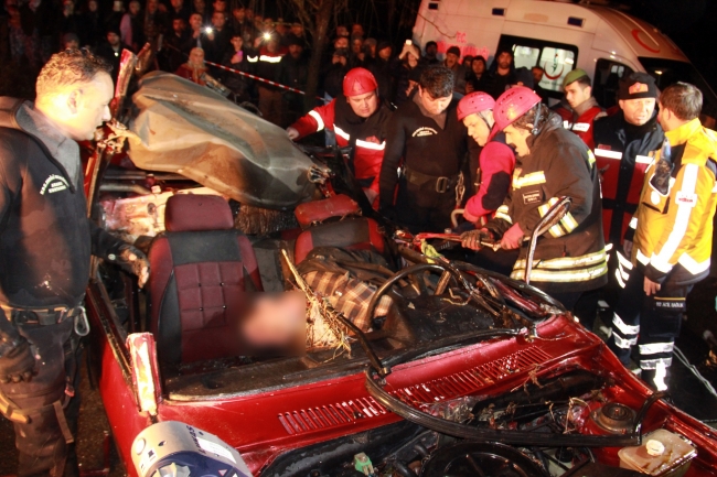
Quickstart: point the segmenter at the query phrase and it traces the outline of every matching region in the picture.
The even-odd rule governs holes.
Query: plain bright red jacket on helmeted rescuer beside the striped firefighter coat
[[[463,216],[478,219],[490,218],[503,204],[511,188],[515,169],[515,153],[505,143],[505,134],[499,132],[483,147],[479,158],[478,193],[468,199]]]

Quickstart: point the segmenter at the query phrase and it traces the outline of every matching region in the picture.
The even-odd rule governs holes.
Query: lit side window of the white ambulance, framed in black
[[[513,51],[516,68],[542,67],[545,74],[541,86],[553,98],[563,95],[563,78],[578,59],[577,46],[521,36],[501,35],[499,50]]]

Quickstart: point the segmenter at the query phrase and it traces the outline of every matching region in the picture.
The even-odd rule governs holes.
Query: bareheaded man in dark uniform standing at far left
[[[87,219],[79,147],[109,120],[105,62],[67,50],[43,66],[33,102],[0,98],[0,411],[14,423],[19,476],[77,475],[72,398],[90,252],[147,281],[132,246]]]

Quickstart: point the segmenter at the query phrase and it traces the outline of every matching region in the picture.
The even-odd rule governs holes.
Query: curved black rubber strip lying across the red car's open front
[[[421,412],[387,393],[373,379],[371,370],[366,370],[366,390],[381,405],[424,427],[454,437],[494,441],[503,444],[545,446],[546,440],[553,446],[564,447],[624,447],[640,445],[639,434],[631,435],[580,435],[580,434],[544,434],[525,431],[501,431],[493,429],[478,429],[465,424],[435,418]]]

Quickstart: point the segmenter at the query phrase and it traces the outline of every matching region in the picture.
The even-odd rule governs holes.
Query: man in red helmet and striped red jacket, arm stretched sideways
[[[292,140],[324,128],[336,133],[340,148],[353,147],[352,171],[373,204],[378,196],[378,175],[386,149],[386,122],[392,110],[378,97],[378,84],[365,68],[353,68],[343,78],[343,95],[319,106],[287,128]]]

